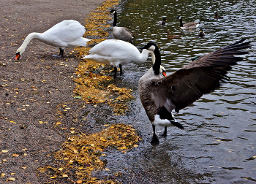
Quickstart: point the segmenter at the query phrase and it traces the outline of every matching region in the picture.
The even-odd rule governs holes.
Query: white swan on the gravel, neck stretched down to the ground
[[[23,44],[20,45],[16,51],[16,58],[18,60],[22,55],[31,39],[39,39],[48,45],[59,47],[59,57],[63,58],[65,47],[84,46],[86,47],[87,42],[91,39],[83,38],[86,28],[82,26],[76,20],[63,20],[57,23],[52,28],[48,29],[43,33],[31,33],[24,40]],[[57,56],[57,55],[53,55]]]

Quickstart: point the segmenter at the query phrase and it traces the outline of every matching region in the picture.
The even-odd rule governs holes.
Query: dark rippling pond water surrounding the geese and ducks
[[[151,66],[124,66],[121,80],[135,90],[129,115],[116,122],[134,125],[143,141],[129,153],[113,153],[106,159],[110,172],[122,172],[130,183],[253,183],[256,182],[256,4],[255,1],[127,0],[118,8],[118,26],[135,34],[136,47],[155,42],[162,65],[173,72],[191,58],[204,55],[247,37],[249,54],[228,74],[230,81],[191,106],[175,114],[185,130],[168,129],[167,138],[152,147],[151,123],[138,98],[138,80]],[[214,19],[218,11],[224,19]],[[199,28],[181,31],[176,17],[184,23],[200,21]],[[167,25],[157,22],[167,18]],[[167,39],[165,31],[182,39]],[[109,123],[109,122],[108,122]],[[157,127],[160,132],[162,127]],[[124,182],[124,181],[123,181]],[[126,183],[126,182],[124,182]]]

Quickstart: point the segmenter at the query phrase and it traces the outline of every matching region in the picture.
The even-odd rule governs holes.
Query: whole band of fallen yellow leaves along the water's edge
[[[118,4],[119,0],[108,0],[97,7],[94,12],[86,18],[86,34],[91,37],[88,43],[94,45],[105,40],[108,32],[105,28],[110,27],[106,24],[110,20],[108,9]],[[77,57],[89,54],[90,47],[76,47]],[[132,90],[128,88],[118,88],[111,83],[113,77],[108,74],[108,69],[104,64],[96,61],[80,61],[76,69],[77,77],[74,79],[76,88],[74,98],[82,99],[86,104],[108,104],[113,107],[116,115],[124,114],[128,110],[127,102],[134,99]],[[59,123],[61,124],[61,123]],[[58,124],[56,123],[56,126]],[[99,180],[92,177],[91,173],[97,170],[105,169],[106,161],[102,161],[105,154],[102,153],[108,148],[116,148],[125,152],[132,147],[138,147],[136,143],[140,141],[137,131],[132,126],[124,123],[109,126],[96,134],[77,133],[75,136],[69,136],[62,145],[62,149],[54,156],[60,160],[58,166],[41,166],[38,175],[46,172],[51,183],[59,182],[61,179],[69,180],[72,183],[118,183],[114,180]],[[72,132],[72,133],[75,133]]]

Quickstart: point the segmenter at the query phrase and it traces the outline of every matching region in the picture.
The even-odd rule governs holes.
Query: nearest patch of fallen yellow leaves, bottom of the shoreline
[[[38,169],[39,172],[53,170],[53,179],[64,177],[75,169],[76,177],[83,181],[92,180],[91,172],[105,168],[105,161],[100,156],[105,156],[102,151],[110,147],[118,150],[127,150],[138,147],[136,143],[140,140],[133,126],[127,126],[123,123],[112,125],[96,134],[80,134],[69,137],[62,145],[62,150],[54,153],[57,159],[66,162],[59,168],[52,166],[43,166]],[[63,173],[64,172],[64,173]],[[97,178],[96,178],[97,179]],[[94,179],[94,180],[96,180]]]

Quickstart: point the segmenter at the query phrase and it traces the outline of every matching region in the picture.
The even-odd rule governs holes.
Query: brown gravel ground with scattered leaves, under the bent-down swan
[[[72,49],[64,50],[64,58],[53,59],[59,48],[32,39],[20,61],[14,58],[29,33],[67,19],[85,25],[86,15],[102,1],[0,1],[0,175],[6,174],[0,183],[47,182],[37,169],[53,162],[52,153],[59,150],[69,128],[91,130],[76,123],[85,110],[83,101],[72,96],[79,62]],[[56,122],[62,129],[55,128]]]

